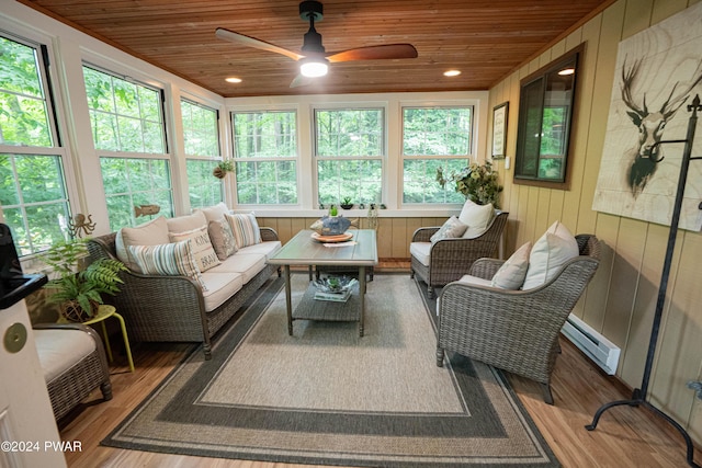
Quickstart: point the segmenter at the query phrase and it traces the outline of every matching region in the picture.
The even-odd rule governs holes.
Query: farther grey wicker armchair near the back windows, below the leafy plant
[[[507,225],[507,212],[498,212],[491,225],[475,239],[442,239],[431,246],[429,264],[411,254],[410,277],[419,276],[427,283],[429,297],[434,296],[434,287],[444,286],[468,274],[471,265],[478,259],[492,256]],[[412,242],[430,242],[431,236],[441,227],[419,228],[412,235]]]

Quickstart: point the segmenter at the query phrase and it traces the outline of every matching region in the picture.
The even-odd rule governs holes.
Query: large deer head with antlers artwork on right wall
[[[702,3],[619,45],[614,84],[592,209],[670,225],[687,113],[702,94]],[[692,148],[702,156],[702,138]],[[702,164],[691,167],[680,228],[700,230]]]

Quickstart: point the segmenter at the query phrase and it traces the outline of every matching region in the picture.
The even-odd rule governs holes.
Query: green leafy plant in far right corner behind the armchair
[[[497,181],[498,175],[489,161],[483,165],[474,162],[460,172],[452,172],[449,176],[444,175],[443,168],[437,169],[437,182],[442,187],[446,182],[453,182],[455,191],[462,193],[467,199],[478,205],[491,203],[495,208],[499,208],[498,197],[502,192],[502,185]]]

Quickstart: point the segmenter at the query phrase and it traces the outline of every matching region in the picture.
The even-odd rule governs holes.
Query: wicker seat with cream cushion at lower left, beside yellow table
[[[46,388],[52,400],[56,421],[76,408],[95,388],[100,388],[104,400],[112,399],[110,368],[100,335],[81,323],[35,323],[34,338],[42,368],[45,369]],[[58,334],[65,336],[59,336]],[[76,339],[70,334],[86,333],[93,343],[90,352],[76,353]],[[73,356],[65,361],[61,356]],[[61,361],[56,361],[57,358]],[[70,362],[75,359],[73,362]],[[59,366],[60,372],[54,369]]]

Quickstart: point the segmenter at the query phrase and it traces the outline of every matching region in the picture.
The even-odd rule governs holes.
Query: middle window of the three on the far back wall
[[[383,109],[315,110],[318,203],[381,203]]]

